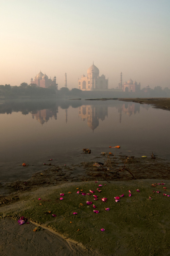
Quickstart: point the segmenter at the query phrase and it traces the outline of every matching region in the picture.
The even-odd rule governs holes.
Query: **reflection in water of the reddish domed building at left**
[[[54,118],[55,120],[57,119],[57,113],[58,113],[58,108],[56,109],[42,109],[38,110],[37,113],[33,114],[32,113],[32,118],[36,118],[38,122],[43,125],[44,123],[47,123],[48,120],[51,118]]]

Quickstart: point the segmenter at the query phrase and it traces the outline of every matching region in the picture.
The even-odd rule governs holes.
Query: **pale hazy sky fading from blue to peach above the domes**
[[[0,0],[0,84],[40,72],[64,87],[98,67],[116,88],[170,88],[170,0]]]

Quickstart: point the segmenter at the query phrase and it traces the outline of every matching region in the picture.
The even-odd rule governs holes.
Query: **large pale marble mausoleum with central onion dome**
[[[105,75],[99,76],[99,69],[93,65],[87,70],[87,76],[82,75],[78,81],[82,91],[102,91],[108,89],[108,79]]]

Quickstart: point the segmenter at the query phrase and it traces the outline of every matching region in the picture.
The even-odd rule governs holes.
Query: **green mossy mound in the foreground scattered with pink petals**
[[[22,209],[9,210],[1,213],[1,216],[16,219],[24,216],[57,231],[65,238],[81,242],[100,255],[169,255],[170,197],[163,194],[170,194],[170,181],[166,181],[165,185],[152,186],[152,183],[159,182],[164,183],[158,180],[94,181],[79,183],[78,186],[56,187],[51,194],[39,195],[41,200],[38,197],[25,198]],[[102,191],[99,193],[97,188]],[[95,194],[91,194],[90,189]],[[82,196],[81,193],[77,194],[78,190],[91,195]],[[64,193],[63,200],[60,200],[60,193]],[[115,202],[114,197],[122,194],[124,197]],[[97,195],[98,200],[94,200],[93,195]],[[107,198],[107,202],[101,200],[103,197]],[[86,201],[92,201],[92,204],[87,205]],[[99,210],[98,214],[93,212],[93,204],[97,207],[95,210]],[[110,210],[105,211],[105,208]],[[77,215],[73,212],[77,212]],[[102,232],[101,228],[105,231]]]

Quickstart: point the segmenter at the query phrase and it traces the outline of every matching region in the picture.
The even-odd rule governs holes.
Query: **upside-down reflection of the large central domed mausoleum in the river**
[[[79,116],[84,121],[87,119],[87,125],[94,130],[99,126],[99,119],[102,121],[108,116],[107,106],[82,105],[79,107]]]

